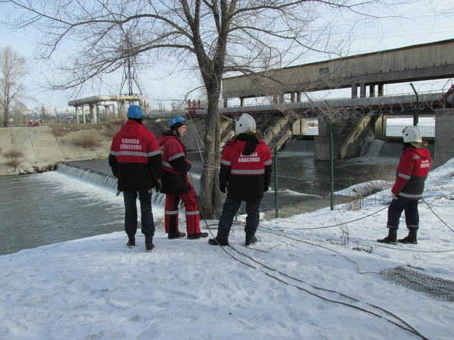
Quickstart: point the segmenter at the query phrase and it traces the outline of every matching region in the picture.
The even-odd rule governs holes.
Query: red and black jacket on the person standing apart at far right
[[[424,192],[431,162],[428,149],[408,145],[402,152],[391,192],[405,200],[419,200]]]

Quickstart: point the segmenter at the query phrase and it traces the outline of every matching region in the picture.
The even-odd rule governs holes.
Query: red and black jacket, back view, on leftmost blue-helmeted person
[[[153,133],[128,120],[114,136],[109,165],[119,191],[149,191],[164,175],[161,150]]]

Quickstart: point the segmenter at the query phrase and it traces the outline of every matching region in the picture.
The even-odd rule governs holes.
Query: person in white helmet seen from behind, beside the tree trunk
[[[246,202],[245,245],[257,242],[255,232],[260,221],[260,202],[271,182],[271,151],[265,142],[257,138],[255,120],[243,113],[236,121],[238,135],[229,140],[221,155],[219,189],[227,197],[222,207],[216,238],[210,238],[210,245],[228,245],[228,234],[233,218]]]

